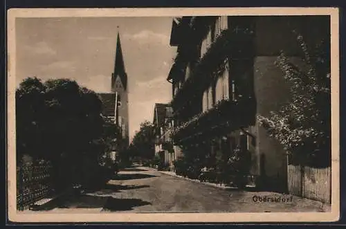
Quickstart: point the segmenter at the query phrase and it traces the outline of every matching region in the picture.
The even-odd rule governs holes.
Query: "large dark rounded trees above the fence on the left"
[[[119,132],[101,116],[98,95],[69,79],[27,78],[16,91],[16,111],[18,158],[51,161],[55,181],[65,184],[93,172]]]

